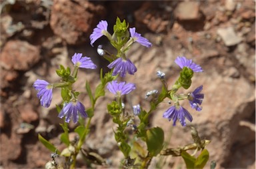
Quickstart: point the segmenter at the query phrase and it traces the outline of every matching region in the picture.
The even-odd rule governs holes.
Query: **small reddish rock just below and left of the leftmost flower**
[[[31,104],[19,106],[19,112],[21,112],[22,120],[27,123],[31,123],[39,118],[37,112],[33,110],[33,106]]]

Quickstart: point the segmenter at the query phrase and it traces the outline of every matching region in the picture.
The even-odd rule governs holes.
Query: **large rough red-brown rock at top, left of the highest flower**
[[[51,8],[51,29],[69,44],[85,41],[99,20],[105,8],[89,1],[53,1]]]

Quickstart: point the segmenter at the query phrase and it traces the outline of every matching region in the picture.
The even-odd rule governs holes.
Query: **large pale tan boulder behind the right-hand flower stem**
[[[195,82],[193,84],[195,87],[203,84],[202,92],[205,94],[202,103],[203,110],[201,112],[192,110],[189,108],[188,102],[183,102],[181,105],[185,106],[193,116],[193,121],[188,122],[188,125],[196,126],[201,138],[211,140],[211,143],[207,146],[207,150],[211,154],[210,161],[215,160],[217,168],[220,168],[225,165],[225,161],[232,159],[232,152],[227,150],[230,150],[236,142],[235,138],[240,135],[237,133],[238,128],[240,128],[239,122],[253,116],[255,88],[253,85],[245,83],[244,78],[231,79],[230,77],[222,77],[217,73],[211,73],[210,76],[197,75],[193,82]],[[235,86],[239,86],[239,88]],[[165,133],[168,133],[172,127],[172,122],[168,120],[165,120],[163,124],[162,116],[167,108],[169,108],[168,104],[159,106],[153,117],[153,124],[164,128]],[[177,147],[193,142],[189,126],[175,126],[172,129],[171,138],[173,139],[171,139],[169,147]],[[249,161],[253,159],[250,158]],[[239,168],[246,168],[241,163],[239,165]]]

